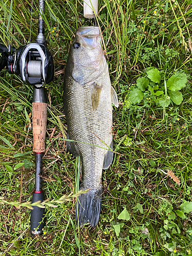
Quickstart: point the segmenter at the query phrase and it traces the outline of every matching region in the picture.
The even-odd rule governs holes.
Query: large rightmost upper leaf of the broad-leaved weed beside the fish
[[[185,86],[186,82],[187,75],[185,73],[177,73],[168,79],[166,83],[167,89],[174,92],[179,91]]]

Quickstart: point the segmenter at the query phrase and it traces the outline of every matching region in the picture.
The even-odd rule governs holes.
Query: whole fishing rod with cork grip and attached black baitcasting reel
[[[32,122],[33,152],[35,153],[35,191],[32,203],[44,201],[42,191],[42,156],[46,150],[47,94],[43,84],[52,81],[54,76],[53,57],[45,39],[44,15],[45,2],[39,0],[38,34],[35,42],[18,49],[0,44],[0,70],[7,67],[10,74],[33,86]],[[41,234],[45,226],[45,209],[33,206],[31,210],[31,233]]]

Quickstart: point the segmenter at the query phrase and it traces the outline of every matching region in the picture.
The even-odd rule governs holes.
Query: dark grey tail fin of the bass
[[[84,190],[82,187],[80,189]],[[92,227],[97,225],[101,211],[101,194],[102,187],[99,187],[97,189],[91,189],[87,194],[82,194],[78,197],[78,210],[76,205],[76,222],[78,224],[79,221],[79,226],[88,222]]]

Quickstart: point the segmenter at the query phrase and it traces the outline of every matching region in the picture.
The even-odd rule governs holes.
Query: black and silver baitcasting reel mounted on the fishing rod
[[[0,70],[7,66],[10,74],[20,76],[25,84],[49,83],[54,76],[53,57],[46,47],[45,40],[35,42],[18,49],[9,49],[0,44]]]

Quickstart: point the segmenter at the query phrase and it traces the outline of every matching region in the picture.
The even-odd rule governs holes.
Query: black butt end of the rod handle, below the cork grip
[[[37,202],[39,200],[41,202],[44,201],[43,191],[35,191],[33,193],[32,203]],[[45,208],[33,206],[33,210],[31,210],[31,233],[33,235],[42,234],[42,228],[44,228],[44,226],[45,226],[45,218],[44,217],[45,217]],[[43,218],[44,218],[44,220],[43,220]],[[43,220],[43,222],[42,222],[42,220]]]

